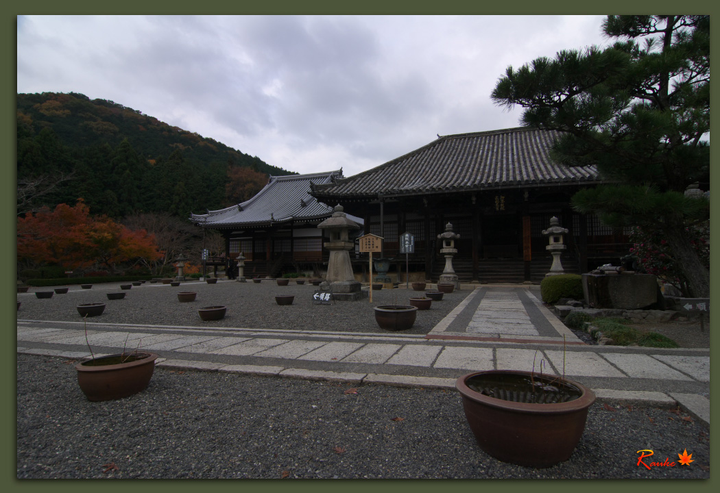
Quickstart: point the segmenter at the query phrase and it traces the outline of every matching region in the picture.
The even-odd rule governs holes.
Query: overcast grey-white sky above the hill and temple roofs
[[[607,45],[600,16],[30,16],[17,92],[120,103],[270,165],[346,176],[436,134],[518,126],[508,65]]]

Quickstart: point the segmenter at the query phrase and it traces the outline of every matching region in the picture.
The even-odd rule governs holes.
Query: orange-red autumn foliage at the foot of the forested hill
[[[17,220],[17,258],[78,269],[115,266],[136,259],[157,259],[155,239],[145,230],[132,231],[106,216],[91,216],[82,199],[74,206],[44,207]]]

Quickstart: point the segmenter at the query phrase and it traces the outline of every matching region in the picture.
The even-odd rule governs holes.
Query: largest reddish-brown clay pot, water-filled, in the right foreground
[[[459,377],[455,387],[480,448],[521,466],[570,459],[595,402],[580,383],[531,372],[475,372]]]

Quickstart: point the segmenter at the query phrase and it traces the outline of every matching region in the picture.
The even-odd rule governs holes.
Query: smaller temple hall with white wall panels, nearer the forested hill
[[[233,272],[234,259],[242,252],[248,277],[276,277],[301,270],[319,273],[329,254],[323,250],[323,229],[318,229],[318,224],[332,216],[333,207],[309,192],[312,186],[331,185],[339,178],[342,170],[271,176],[250,200],[219,211],[192,214],[190,220],[225,237],[226,258],[222,262],[229,272]],[[348,217],[362,227],[360,218]]]

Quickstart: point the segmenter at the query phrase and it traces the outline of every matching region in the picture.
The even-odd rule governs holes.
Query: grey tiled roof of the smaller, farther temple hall
[[[333,208],[309,194],[310,184],[331,184],[342,175],[342,170],[337,170],[309,175],[271,176],[268,184],[249,201],[219,211],[208,211],[207,214],[192,214],[190,220],[199,226],[222,228],[329,217]]]

